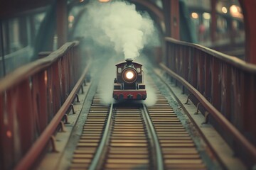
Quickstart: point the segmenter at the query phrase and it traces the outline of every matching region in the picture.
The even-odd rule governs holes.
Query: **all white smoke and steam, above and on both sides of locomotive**
[[[136,11],[135,5],[125,1],[99,3],[90,1],[86,4],[84,13],[79,18],[74,37],[82,38],[82,50],[95,61],[92,69],[102,72],[100,77],[99,94],[102,103],[112,103],[113,82],[116,74],[115,64],[123,62],[124,58],[136,58],[135,62],[147,65],[142,50],[144,47],[159,46],[159,36],[154,23],[147,13]],[[78,13],[73,9],[70,14]],[[140,57],[139,57],[140,56]],[[104,66],[96,63],[102,63]],[[95,71],[96,72],[96,71]],[[145,77],[145,75],[144,75]],[[146,84],[147,98],[144,101],[152,105],[156,101],[154,89]]]

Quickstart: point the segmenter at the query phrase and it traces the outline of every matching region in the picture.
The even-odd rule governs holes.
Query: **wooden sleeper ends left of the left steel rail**
[[[73,154],[70,169],[88,169],[105,130],[110,106],[100,103],[100,96],[96,94],[92,99],[90,111],[87,115],[82,135]]]

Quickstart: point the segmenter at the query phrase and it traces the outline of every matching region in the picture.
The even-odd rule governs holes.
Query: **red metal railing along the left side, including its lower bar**
[[[46,146],[85,77],[80,57],[67,42],[1,79],[1,169],[28,169]]]

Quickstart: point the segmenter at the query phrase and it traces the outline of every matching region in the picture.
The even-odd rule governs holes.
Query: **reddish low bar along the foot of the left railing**
[[[90,62],[87,64],[87,67],[84,69],[82,76],[80,77],[78,82],[75,84],[73,90],[70,92],[70,95],[63,103],[63,106],[60,107],[59,111],[56,113],[56,115],[53,117],[53,119],[47,125],[46,129],[43,130],[40,137],[38,137],[36,142],[33,144],[33,147],[31,147],[31,149],[28,150],[26,155],[17,164],[17,166],[15,167],[16,170],[30,169],[31,166],[33,165],[33,163],[36,161],[36,159],[40,156],[44,147],[50,140],[50,136],[53,135],[53,133],[55,132],[55,130],[58,127],[63,116],[70,108],[70,104],[72,103],[73,99],[75,98],[75,95],[80,90],[80,86],[82,85],[82,83],[85,79],[85,76],[88,72],[89,66],[90,66]]]

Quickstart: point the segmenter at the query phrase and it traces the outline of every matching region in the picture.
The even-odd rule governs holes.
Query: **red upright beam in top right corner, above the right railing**
[[[256,64],[256,1],[240,0],[245,21],[245,61]]]

